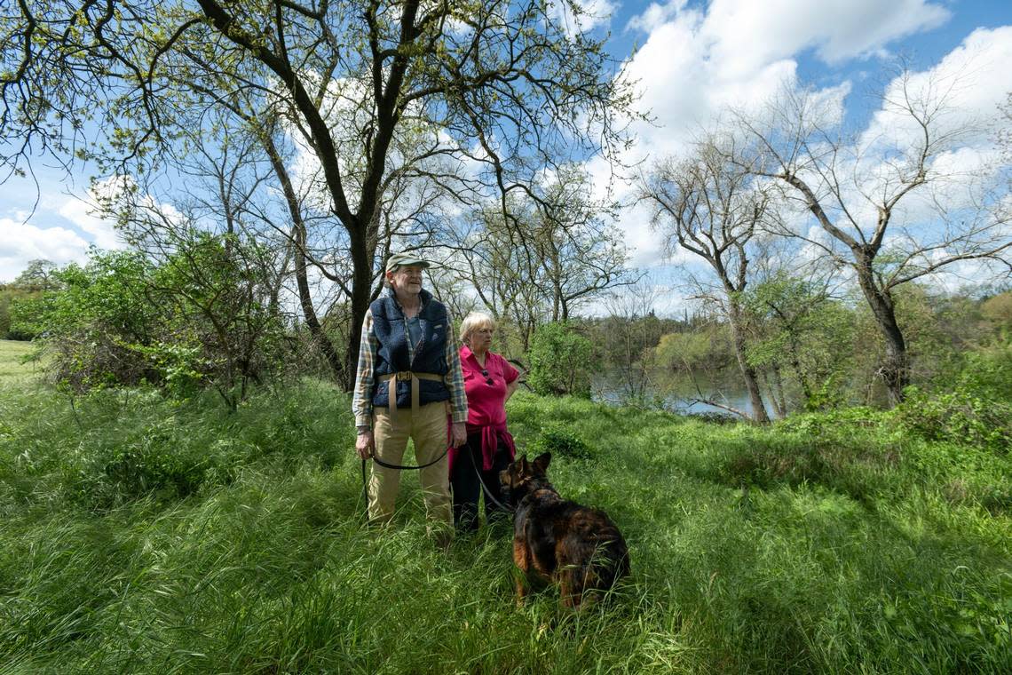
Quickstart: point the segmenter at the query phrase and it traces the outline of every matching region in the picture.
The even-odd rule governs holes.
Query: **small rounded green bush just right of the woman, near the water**
[[[590,340],[569,324],[552,323],[534,331],[527,352],[527,384],[538,394],[590,398],[596,364]]]

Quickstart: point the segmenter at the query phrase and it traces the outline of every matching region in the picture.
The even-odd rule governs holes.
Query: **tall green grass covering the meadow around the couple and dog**
[[[363,526],[347,398],[71,401],[0,343],[0,673],[1012,671],[1012,459],[889,413],[768,428],[518,394],[632,576],[514,603],[509,532]]]

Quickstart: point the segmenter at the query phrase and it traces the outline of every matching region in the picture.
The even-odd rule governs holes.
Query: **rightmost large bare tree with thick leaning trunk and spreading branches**
[[[974,131],[951,120],[954,86],[903,71],[883,94],[881,129],[860,137],[847,136],[835,103],[811,91],[781,94],[761,120],[736,115],[759,150],[734,161],[778,181],[825,236],[807,223],[776,231],[853,273],[884,339],[878,373],[894,404],[910,379],[896,288],[963,260],[1009,266],[1009,213],[999,207],[994,167],[947,168],[948,153]]]

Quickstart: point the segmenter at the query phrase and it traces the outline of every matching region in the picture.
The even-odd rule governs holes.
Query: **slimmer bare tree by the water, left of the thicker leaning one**
[[[663,160],[641,181],[640,198],[654,210],[670,253],[687,251],[703,260],[716,277],[708,300],[727,317],[752,417],[768,422],[755,368],[746,356],[746,311],[742,293],[749,282],[749,246],[767,217],[769,195],[733,161],[733,137],[710,136],[694,145],[682,161]],[[699,285],[704,285],[699,282]],[[744,416],[743,411],[734,411]]]

